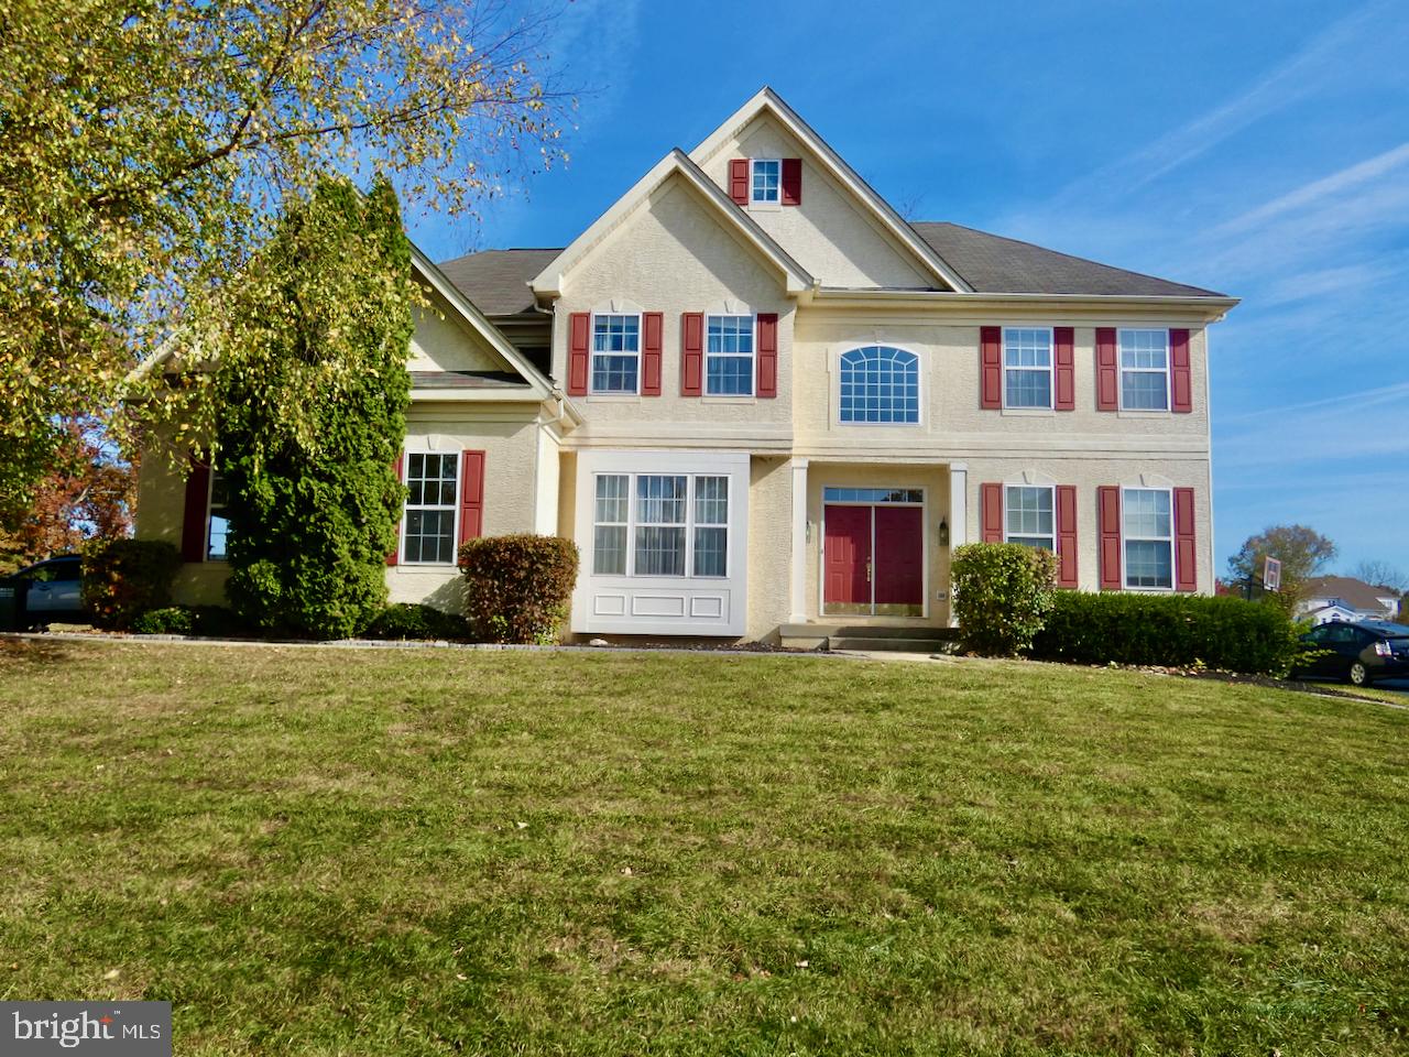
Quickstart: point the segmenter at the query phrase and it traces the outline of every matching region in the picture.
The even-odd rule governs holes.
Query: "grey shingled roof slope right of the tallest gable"
[[[978,293],[1226,296],[947,221],[921,220],[910,227]]]

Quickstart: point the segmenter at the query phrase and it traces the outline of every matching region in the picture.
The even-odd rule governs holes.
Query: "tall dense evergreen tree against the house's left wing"
[[[241,276],[221,345],[216,469],[227,483],[231,606],[256,627],[355,634],[386,605],[403,488],[416,299],[396,193],[323,180]],[[287,409],[297,407],[293,416]]]

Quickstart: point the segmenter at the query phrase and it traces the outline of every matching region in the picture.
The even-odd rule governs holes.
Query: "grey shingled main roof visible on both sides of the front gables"
[[[1133,297],[1222,297],[1215,290],[1112,268],[1016,238],[945,221],[910,224],[978,293],[1126,295]],[[514,316],[534,304],[528,282],[561,249],[485,249],[440,268],[486,316]]]

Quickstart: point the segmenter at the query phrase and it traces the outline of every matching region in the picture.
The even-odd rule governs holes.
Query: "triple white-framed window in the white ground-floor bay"
[[[597,474],[592,574],[728,575],[728,478],[714,474]]]

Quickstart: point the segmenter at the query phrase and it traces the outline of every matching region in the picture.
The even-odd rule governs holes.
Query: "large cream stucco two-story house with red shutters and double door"
[[[764,89],[565,248],[414,266],[387,569],[454,606],[461,540],[582,550],[581,634],[950,623],[950,558],[1048,547],[1085,591],[1213,591],[1206,327],[1236,300],[906,223]],[[138,534],[218,600],[218,475]]]

